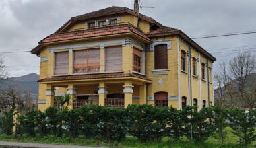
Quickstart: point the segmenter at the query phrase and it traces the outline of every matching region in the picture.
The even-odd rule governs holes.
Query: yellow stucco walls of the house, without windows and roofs
[[[106,26],[110,26],[110,20],[116,19],[118,24],[131,24],[146,34],[152,31],[151,26],[159,25],[148,22],[146,19],[138,19],[130,13],[116,15],[104,15],[78,20],[66,25],[65,32],[77,30],[88,30],[87,22],[106,20]],[[167,68],[155,69],[155,50],[160,44],[167,46]],[[72,96],[69,108],[83,105],[82,100],[91,100],[95,104],[106,106],[115,104],[117,107],[126,108],[129,104],[156,104],[155,95],[158,92],[167,94],[168,106],[182,108],[182,97],[187,98],[186,104],[193,105],[193,99],[197,99],[199,109],[203,107],[203,100],[209,104],[213,100],[212,89],[212,64],[207,55],[191,46],[189,42],[177,35],[151,36],[145,40],[135,34],[115,34],[109,36],[98,36],[79,40],[65,40],[58,42],[43,43],[38,56],[40,61],[40,79],[60,79],[54,81],[40,81],[38,94],[38,108],[44,111],[50,106],[56,106],[55,97],[67,93]],[[121,48],[121,71],[106,71],[106,48],[119,46]],[[100,71],[95,73],[74,72],[74,52],[77,50],[100,49]],[[133,71],[133,50],[136,48],[141,52],[141,71]],[[181,70],[181,51],[186,53],[186,70]],[[68,52],[68,73],[55,75],[55,54],[57,52]],[[195,57],[196,73],[191,75],[192,69],[189,59]],[[201,63],[205,63],[205,79],[201,78]],[[208,70],[210,67],[210,72]],[[81,75],[117,75],[134,74],[139,77],[97,77],[95,79],[61,79],[61,77],[80,77]],[[208,75],[209,80],[208,81]],[[94,77],[94,76],[92,76]],[[141,78],[142,77],[142,78]],[[112,96],[112,97],[111,97]],[[113,97],[115,96],[115,97]],[[82,99],[81,99],[82,98]],[[115,98],[116,100],[114,100]],[[92,103],[91,102],[91,103]],[[78,104],[78,105],[77,105]]]

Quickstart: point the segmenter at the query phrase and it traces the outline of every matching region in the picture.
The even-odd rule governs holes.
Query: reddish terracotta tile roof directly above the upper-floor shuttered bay
[[[71,32],[64,32],[64,33],[55,33],[47,36],[39,43],[49,43],[49,42],[58,42],[58,41],[65,41],[65,40],[75,40],[75,39],[82,39],[82,38],[90,38],[96,36],[109,36],[114,34],[125,34],[133,32],[146,40],[150,40],[143,32],[132,26],[131,24],[121,24],[117,26],[106,26],[103,28],[95,28],[90,30],[77,30]]]

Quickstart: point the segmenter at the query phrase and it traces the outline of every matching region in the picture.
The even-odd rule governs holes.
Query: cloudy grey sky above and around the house
[[[202,35],[256,31],[255,0],[141,0],[141,13],[191,38]],[[39,73],[40,58],[30,52],[42,38],[55,32],[70,17],[112,5],[133,9],[133,0],[1,0],[0,55],[11,77]],[[195,39],[217,61],[239,52],[256,55],[256,34]],[[11,53],[6,53],[11,52]]]

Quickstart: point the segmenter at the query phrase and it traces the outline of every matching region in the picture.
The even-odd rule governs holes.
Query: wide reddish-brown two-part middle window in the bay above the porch
[[[74,51],[74,73],[100,71],[100,49]]]

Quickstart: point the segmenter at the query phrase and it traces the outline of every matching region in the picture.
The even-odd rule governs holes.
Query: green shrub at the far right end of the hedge
[[[246,111],[240,108],[228,109],[228,120],[234,135],[239,137],[240,145],[249,145],[256,140],[256,110]]]

